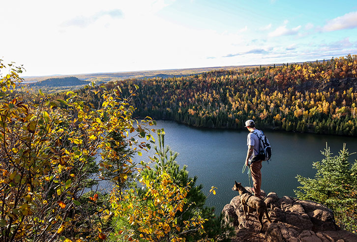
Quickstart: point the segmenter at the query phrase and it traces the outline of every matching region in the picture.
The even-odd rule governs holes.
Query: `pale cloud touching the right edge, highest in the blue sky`
[[[357,12],[346,13],[343,16],[327,21],[323,31],[334,31],[357,28]]]

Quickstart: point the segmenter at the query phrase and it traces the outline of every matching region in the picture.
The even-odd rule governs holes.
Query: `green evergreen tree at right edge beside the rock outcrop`
[[[326,158],[313,163],[314,179],[297,176],[301,186],[295,193],[299,199],[326,205],[341,228],[357,233],[357,160],[350,164],[345,145],[338,155],[332,156],[327,147],[322,154]]]

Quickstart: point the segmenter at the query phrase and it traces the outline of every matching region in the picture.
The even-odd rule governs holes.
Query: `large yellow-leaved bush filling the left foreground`
[[[116,148],[146,149],[136,136],[150,140],[146,124],[153,122],[135,127],[134,108],[119,88],[98,87],[103,102],[94,109],[72,91],[65,100],[42,91],[30,98],[17,88],[19,73],[21,66],[0,60],[0,241],[103,241],[110,229],[108,199],[85,188],[101,180],[99,170],[124,186],[131,160]],[[124,169],[112,169],[111,160]]]

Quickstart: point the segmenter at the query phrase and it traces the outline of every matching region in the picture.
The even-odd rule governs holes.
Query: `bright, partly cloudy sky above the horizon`
[[[259,65],[357,54],[356,0],[1,0],[23,76]]]

